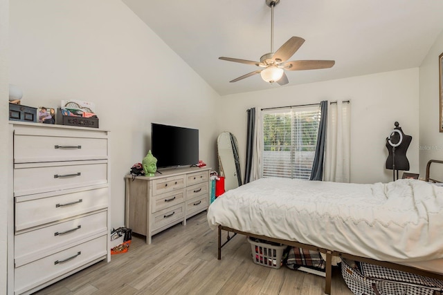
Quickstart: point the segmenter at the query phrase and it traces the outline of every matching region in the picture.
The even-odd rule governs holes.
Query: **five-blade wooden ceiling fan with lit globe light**
[[[242,75],[233,79],[230,82],[237,82],[247,77],[251,77],[256,74],[260,74],[264,81],[273,83],[277,82],[280,85],[288,83],[288,77],[284,73],[284,70],[316,70],[320,68],[331,68],[334,66],[333,60],[297,60],[287,61],[300,46],[302,46],[305,39],[300,37],[291,37],[286,43],[278,48],[275,53],[273,52],[273,22],[274,22],[274,6],[277,5],[280,0],[265,0],[266,5],[271,8],[271,53],[266,53],[260,57],[260,61],[250,61],[246,59],[235,59],[231,57],[219,57],[219,59],[239,62],[241,64],[251,64],[258,66],[260,70],[254,70],[251,73]]]

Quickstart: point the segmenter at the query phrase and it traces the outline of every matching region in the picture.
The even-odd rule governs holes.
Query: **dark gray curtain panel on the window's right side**
[[[311,177],[309,180],[323,180],[323,162],[325,161],[326,148],[326,125],[327,125],[327,100],[320,102],[320,124],[318,125],[318,136],[316,155],[312,164]]]

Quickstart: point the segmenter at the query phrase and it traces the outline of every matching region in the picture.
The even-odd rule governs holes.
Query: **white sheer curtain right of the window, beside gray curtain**
[[[325,181],[350,182],[350,112],[351,103],[348,101],[329,105],[323,175]]]

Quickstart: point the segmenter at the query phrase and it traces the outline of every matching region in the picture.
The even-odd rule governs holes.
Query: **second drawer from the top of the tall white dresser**
[[[107,160],[15,164],[14,195],[105,184]]]

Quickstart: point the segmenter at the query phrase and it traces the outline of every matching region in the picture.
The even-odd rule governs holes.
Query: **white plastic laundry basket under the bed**
[[[279,269],[282,266],[283,251],[286,245],[269,244],[268,242],[256,242],[248,237],[248,242],[251,243],[252,258],[257,265],[264,265]]]

